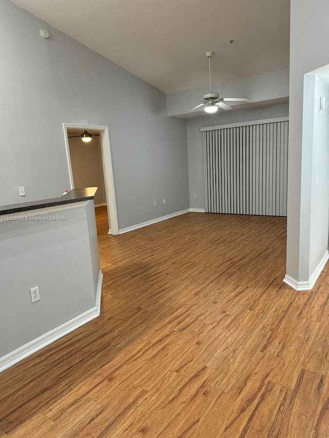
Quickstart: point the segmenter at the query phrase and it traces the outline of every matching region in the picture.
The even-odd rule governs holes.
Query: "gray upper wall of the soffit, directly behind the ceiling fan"
[[[204,109],[200,109],[192,113],[188,111],[194,105],[185,105],[177,108],[177,105],[183,105],[190,102],[197,102],[202,100],[205,93],[209,93],[209,80],[207,76],[207,66],[205,66],[205,87],[196,90],[177,91],[175,93],[167,94],[168,116],[192,117],[204,115]],[[213,91],[220,93],[222,97],[240,97],[248,98],[250,103],[268,102],[288,98],[289,96],[289,70],[275,71],[272,73],[261,74],[252,78],[241,79],[239,81],[225,82],[222,84],[213,84]],[[248,109],[248,105],[244,105],[244,109]],[[232,102],[231,106],[239,105],[241,103]],[[265,106],[264,104],[263,106]],[[239,108],[240,109],[240,108]],[[225,112],[220,110],[221,112]]]

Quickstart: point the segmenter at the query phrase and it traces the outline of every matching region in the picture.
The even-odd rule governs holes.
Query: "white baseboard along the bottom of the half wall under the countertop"
[[[0,372],[6,370],[12,365],[16,364],[25,357],[30,356],[36,351],[41,350],[57,339],[67,335],[68,333],[76,330],[78,327],[83,326],[85,323],[91,321],[97,316],[100,315],[100,305],[101,305],[101,294],[102,294],[102,281],[103,274],[99,271],[98,277],[98,285],[97,285],[97,294],[96,294],[96,306],[93,309],[87,310],[79,316],[71,319],[70,321],[64,322],[59,327],[56,327],[53,330],[45,333],[42,336],[39,336],[36,339],[31,340],[27,344],[23,345],[20,348],[8,353],[6,356],[0,358]]]

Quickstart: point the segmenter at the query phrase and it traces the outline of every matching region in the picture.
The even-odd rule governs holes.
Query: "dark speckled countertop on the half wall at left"
[[[43,199],[41,201],[22,202],[20,204],[0,206],[0,215],[9,215],[12,213],[27,212],[37,210],[38,208],[53,207],[55,205],[71,204],[73,202],[86,201],[94,199],[98,187],[74,188],[66,195],[58,198]]]

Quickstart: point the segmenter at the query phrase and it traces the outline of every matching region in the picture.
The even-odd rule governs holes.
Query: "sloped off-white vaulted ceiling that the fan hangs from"
[[[169,93],[289,67],[288,0],[13,0]],[[235,42],[231,45],[229,40]]]

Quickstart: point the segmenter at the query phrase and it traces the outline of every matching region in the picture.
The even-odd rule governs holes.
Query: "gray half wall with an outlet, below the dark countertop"
[[[94,309],[100,272],[94,201],[9,216],[67,220],[0,222],[0,368],[3,356]]]

